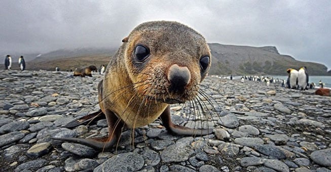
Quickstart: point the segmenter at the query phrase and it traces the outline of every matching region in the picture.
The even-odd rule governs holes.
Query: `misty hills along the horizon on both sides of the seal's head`
[[[279,54],[276,47],[208,45],[212,54],[210,74],[287,75],[286,69],[288,68],[299,69],[306,66],[310,75],[331,75],[331,71],[327,71],[325,65],[297,61],[291,56]],[[61,49],[34,57],[31,61],[27,61],[26,69],[55,70],[55,67],[59,67],[60,70],[73,70],[89,65],[99,68],[102,64],[107,65],[116,51],[117,49],[96,48]],[[18,57],[16,63],[17,61]],[[19,69],[16,63],[13,65],[13,69]]]

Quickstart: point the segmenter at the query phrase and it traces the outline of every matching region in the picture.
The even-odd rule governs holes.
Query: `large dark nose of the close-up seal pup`
[[[189,68],[186,66],[180,67],[177,64],[173,64],[168,70],[168,80],[171,83],[169,88],[170,92],[182,92],[191,80]]]

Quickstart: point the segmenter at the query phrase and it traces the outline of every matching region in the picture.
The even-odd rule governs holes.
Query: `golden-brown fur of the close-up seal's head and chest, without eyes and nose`
[[[104,108],[109,108],[130,128],[139,127],[160,116],[168,106],[163,99],[175,98],[185,102],[197,95],[199,83],[206,76],[206,73],[200,76],[199,59],[203,55],[211,57],[202,35],[185,25],[160,21],[137,26],[122,41],[123,45],[107,66],[102,94],[99,91],[103,112]],[[151,51],[149,62],[141,68],[132,60],[136,44],[145,45]],[[191,72],[192,78],[184,95],[167,92],[170,84],[167,71],[172,64],[187,66]],[[157,100],[144,100],[146,95],[157,97]],[[146,106],[132,101],[144,102]]]

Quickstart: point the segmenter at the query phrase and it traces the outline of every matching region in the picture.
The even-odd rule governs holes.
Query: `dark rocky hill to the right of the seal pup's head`
[[[302,62],[280,55],[276,47],[248,47],[209,44],[212,54],[210,74],[270,74],[287,75],[286,69],[306,66],[310,75],[330,75],[327,67],[314,62]]]

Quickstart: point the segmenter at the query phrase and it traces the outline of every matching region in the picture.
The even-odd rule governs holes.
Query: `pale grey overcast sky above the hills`
[[[207,42],[276,46],[331,68],[331,1],[0,1],[0,53],[119,47],[138,24],[171,20]]]

